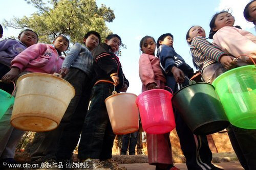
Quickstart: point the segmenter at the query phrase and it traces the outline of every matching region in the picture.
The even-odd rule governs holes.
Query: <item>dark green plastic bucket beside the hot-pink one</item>
[[[172,102],[196,135],[219,132],[229,125],[214,86],[209,83],[185,86],[174,94]]]

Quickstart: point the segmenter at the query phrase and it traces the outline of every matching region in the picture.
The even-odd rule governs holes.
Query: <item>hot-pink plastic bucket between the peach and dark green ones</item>
[[[147,90],[138,96],[136,104],[144,131],[163,134],[175,128],[172,96],[172,93],[164,89]]]

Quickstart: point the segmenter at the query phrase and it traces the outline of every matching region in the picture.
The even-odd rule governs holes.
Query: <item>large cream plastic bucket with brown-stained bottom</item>
[[[16,85],[11,124],[25,131],[55,129],[75,95],[69,82],[49,74],[29,73]]]

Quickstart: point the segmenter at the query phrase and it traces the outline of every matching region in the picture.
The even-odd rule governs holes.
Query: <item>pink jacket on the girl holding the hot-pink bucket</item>
[[[156,80],[160,80],[163,83],[166,82],[159,59],[153,55],[142,54],[140,56],[139,76],[142,84],[145,86],[148,83],[156,83]]]

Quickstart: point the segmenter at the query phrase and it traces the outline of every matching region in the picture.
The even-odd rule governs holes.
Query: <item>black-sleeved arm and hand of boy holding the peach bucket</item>
[[[107,44],[102,43],[94,48],[92,51],[93,58],[98,66],[108,74],[116,85],[119,84],[118,69],[119,64],[110,55],[109,47]]]

